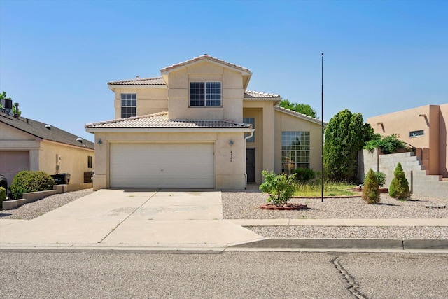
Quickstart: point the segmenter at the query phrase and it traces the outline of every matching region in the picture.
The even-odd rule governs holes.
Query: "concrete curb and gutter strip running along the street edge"
[[[448,253],[447,239],[260,239],[240,244],[1,244],[0,252],[219,254],[225,251]]]

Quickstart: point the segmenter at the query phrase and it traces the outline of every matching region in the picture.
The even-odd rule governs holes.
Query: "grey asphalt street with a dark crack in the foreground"
[[[0,252],[2,298],[446,298],[448,254]]]

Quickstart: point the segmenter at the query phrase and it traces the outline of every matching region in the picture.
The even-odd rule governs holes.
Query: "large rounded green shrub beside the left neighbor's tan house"
[[[55,180],[46,172],[23,170],[15,175],[9,188],[13,197],[18,200],[23,193],[52,190],[54,184]]]

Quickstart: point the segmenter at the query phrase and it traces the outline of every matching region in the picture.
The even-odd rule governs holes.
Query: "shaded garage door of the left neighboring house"
[[[13,183],[14,176],[22,170],[29,170],[29,152],[0,151],[0,174],[6,176],[8,186]]]

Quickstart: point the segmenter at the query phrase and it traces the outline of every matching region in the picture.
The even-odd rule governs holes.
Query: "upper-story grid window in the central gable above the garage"
[[[221,107],[221,82],[190,82],[190,107]]]

